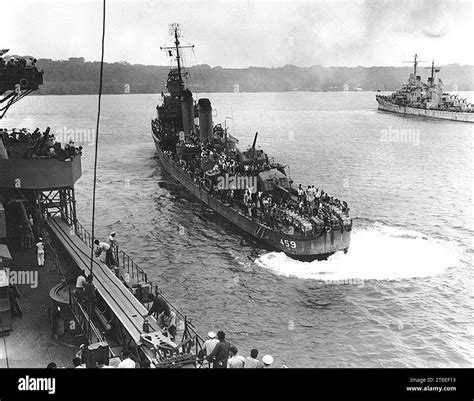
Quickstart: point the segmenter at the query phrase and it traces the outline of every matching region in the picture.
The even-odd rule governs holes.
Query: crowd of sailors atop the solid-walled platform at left
[[[57,142],[54,134],[50,133],[48,127],[44,132],[36,128],[33,132],[23,128],[17,130],[7,130],[0,128],[0,135],[3,136],[5,145],[10,149],[19,148],[22,150],[24,159],[58,159],[67,161],[77,155],[82,155],[82,146],[74,146],[71,139],[64,147],[61,142]]]

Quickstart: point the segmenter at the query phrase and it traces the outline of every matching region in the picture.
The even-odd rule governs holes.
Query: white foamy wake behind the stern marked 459
[[[375,224],[352,231],[347,254],[338,252],[328,260],[300,262],[283,252],[271,252],[255,263],[278,275],[330,282],[428,277],[456,266],[459,260],[458,252],[448,242]]]

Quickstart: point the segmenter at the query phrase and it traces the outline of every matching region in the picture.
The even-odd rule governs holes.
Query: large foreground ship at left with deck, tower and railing
[[[43,84],[36,59],[2,57],[7,51],[0,122]],[[197,359],[204,340],[187,316],[126,252],[111,243],[105,261],[93,256],[94,235],[76,216],[82,150],[53,132],[0,129],[0,368],[117,366],[126,355],[136,367],[209,367]],[[176,333],[154,317],[156,300]]]

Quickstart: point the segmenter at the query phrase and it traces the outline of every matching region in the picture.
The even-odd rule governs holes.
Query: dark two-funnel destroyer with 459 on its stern
[[[164,169],[197,199],[272,250],[299,260],[347,252],[352,219],[346,202],[314,186],[295,188],[284,165],[253,144],[243,148],[213,124],[209,99],[197,102],[184,84],[179,25],[170,27],[176,59],[161,93],[152,137]]]

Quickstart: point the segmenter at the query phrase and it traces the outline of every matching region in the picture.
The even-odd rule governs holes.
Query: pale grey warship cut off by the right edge
[[[410,74],[408,83],[389,96],[376,95],[379,110],[389,111],[404,115],[413,115],[443,120],[474,122],[474,107],[466,98],[444,92],[443,81],[435,74],[440,67],[431,64],[431,76],[427,83],[421,81],[417,75],[418,55],[413,61],[413,73]]]

